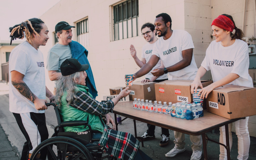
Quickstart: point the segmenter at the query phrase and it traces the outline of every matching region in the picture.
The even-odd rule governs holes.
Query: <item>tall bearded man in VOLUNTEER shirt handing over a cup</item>
[[[154,44],[151,58],[134,74],[133,80],[150,72],[160,58],[166,68],[154,69],[151,71],[153,76],[168,74],[169,80],[194,80],[198,69],[193,55],[194,44],[191,35],[184,30],[172,30],[172,19],[166,13],[158,14],[154,25],[160,38]],[[185,151],[184,133],[174,131],[174,137],[175,147],[165,154],[166,157],[173,157]],[[201,159],[201,135],[190,136],[190,140],[193,143],[191,160]]]

